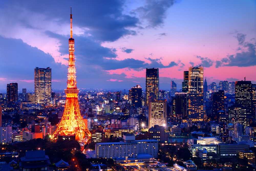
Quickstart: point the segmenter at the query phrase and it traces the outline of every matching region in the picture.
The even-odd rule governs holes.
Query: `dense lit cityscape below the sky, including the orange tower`
[[[56,68],[38,63],[34,90],[17,81],[0,92],[0,171],[256,169],[253,80],[210,83],[192,62],[181,89],[159,89],[158,66],[130,89],[77,87],[72,19],[67,87],[54,89]]]

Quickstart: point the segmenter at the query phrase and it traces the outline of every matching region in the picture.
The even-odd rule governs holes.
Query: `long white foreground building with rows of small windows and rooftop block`
[[[157,140],[136,140],[135,135],[124,135],[124,142],[96,143],[95,158],[137,157],[138,155],[158,156]]]

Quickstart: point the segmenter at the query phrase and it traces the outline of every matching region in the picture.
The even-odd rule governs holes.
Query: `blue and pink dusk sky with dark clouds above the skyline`
[[[256,1],[0,1],[0,91],[34,89],[34,68],[67,87],[72,6],[77,87],[145,89],[159,68],[160,89],[203,66],[207,83],[256,83]]]

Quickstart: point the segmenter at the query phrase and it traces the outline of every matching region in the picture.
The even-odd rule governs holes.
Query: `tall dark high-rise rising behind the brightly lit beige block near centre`
[[[158,68],[146,69],[146,105],[148,99],[159,99],[159,72]]]

